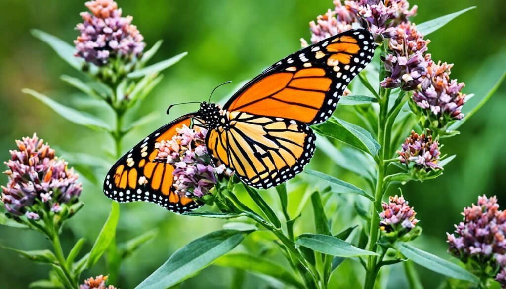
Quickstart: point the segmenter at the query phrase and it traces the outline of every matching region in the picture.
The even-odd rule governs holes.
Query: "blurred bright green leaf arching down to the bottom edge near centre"
[[[244,269],[248,272],[255,272],[274,277],[286,284],[296,288],[304,288],[304,284],[298,278],[288,272],[283,266],[270,260],[262,259],[244,253],[231,253],[220,257],[214,265]]]

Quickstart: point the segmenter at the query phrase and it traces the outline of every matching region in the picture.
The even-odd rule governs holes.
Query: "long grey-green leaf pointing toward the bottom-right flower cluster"
[[[416,249],[415,247],[403,242],[397,242],[396,247],[397,250],[399,250],[399,252],[409,260],[436,273],[455,279],[471,281],[476,284],[480,282],[479,278],[471,272],[432,255],[431,253]]]

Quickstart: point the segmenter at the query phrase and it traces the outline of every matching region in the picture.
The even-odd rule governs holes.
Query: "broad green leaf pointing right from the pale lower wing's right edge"
[[[369,132],[337,117],[331,117],[321,125],[312,126],[312,128],[322,136],[342,141],[372,156],[376,156],[381,147]]]

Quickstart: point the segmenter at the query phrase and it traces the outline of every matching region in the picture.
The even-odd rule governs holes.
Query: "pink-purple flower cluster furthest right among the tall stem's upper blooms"
[[[423,108],[429,118],[437,120],[461,119],[462,105],[466,103],[466,95],[462,94],[463,82],[450,79],[450,69],[453,64],[435,63],[432,60],[427,64],[427,77],[421,82],[420,90],[413,94],[413,101]]]

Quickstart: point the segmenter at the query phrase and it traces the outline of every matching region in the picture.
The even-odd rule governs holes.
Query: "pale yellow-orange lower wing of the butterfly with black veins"
[[[315,150],[315,136],[306,123],[231,112],[228,129],[207,133],[208,153],[256,188],[277,186],[302,172]]]

